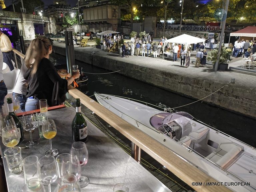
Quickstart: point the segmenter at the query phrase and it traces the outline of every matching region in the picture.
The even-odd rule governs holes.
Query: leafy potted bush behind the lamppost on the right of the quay
[[[219,50],[219,44],[217,45],[216,49],[211,50],[207,55],[207,60],[212,61],[213,68],[215,67],[215,64],[218,58],[218,50]],[[218,69],[221,69],[221,70],[228,69],[228,62],[232,60],[230,58],[231,54],[232,54],[232,50],[230,48],[226,48],[224,44],[222,44]]]

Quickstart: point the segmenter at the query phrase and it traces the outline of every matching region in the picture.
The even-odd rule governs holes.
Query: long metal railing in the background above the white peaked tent
[[[157,29],[163,29],[164,24],[157,24]],[[168,24],[165,29],[180,29],[180,25]],[[220,26],[205,26],[205,25],[181,25],[182,30],[189,31],[219,31]],[[225,31],[237,31],[239,27],[225,27]]]

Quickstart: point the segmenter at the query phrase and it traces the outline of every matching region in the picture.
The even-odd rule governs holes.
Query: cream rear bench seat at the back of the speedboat
[[[233,142],[221,143],[219,148],[206,158],[223,168],[242,150],[242,146],[238,146]]]

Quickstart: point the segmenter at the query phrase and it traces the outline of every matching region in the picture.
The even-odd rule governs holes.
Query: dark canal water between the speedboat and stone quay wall
[[[57,64],[66,64],[66,57],[52,54],[52,62]],[[87,65],[76,61],[76,64],[88,73],[108,73],[111,71]],[[104,65],[104,64],[103,64]],[[151,104],[162,103],[164,105],[175,108],[195,100],[185,96],[163,90],[161,88],[143,83],[129,77],[119,75],[117,73],[95,75],[86,74],[88,76],[87,85],[80,89],[86,95],[91,96],[93,93],[105,93],[117,96],[129,97]],[[96,98],[92,97],[94,100]],[[185,107],[178,108],[179,111],[186,111],[196,119],[211,125],[224,133],[235,137],[253,147],[256,147],[256,120],[227,111],[204,102],[197,102]]]

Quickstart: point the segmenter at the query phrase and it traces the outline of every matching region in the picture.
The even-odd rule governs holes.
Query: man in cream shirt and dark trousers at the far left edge
[[[12,43],[7,35],[0,31],[0,48],[3,52],[3,62],[5,62],[10,70],[14,69],[12,64]]]

